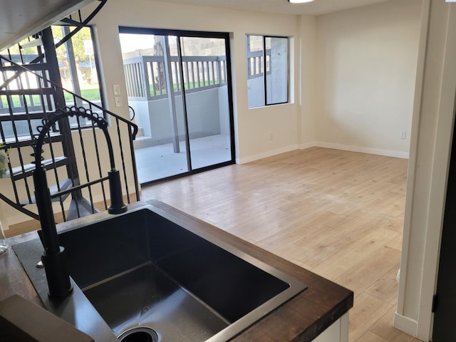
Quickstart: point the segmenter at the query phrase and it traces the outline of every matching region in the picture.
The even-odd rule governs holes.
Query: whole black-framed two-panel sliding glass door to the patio
[[[120,28],[141,184],[234,162],[225,33]]]

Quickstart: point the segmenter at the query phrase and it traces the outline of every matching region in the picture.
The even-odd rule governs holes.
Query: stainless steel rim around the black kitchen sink
[[[292,297],[296,296],[296,294],[299,294],[301,291],[304,291],[304,289],[306,289],[306,287],[307,287],[301,281],[294,279],[292,276],[289,276],[288,274],[284,274],[284,272],[279,271],[278,269],[275,269],[274,267],[272,267],[268,264],[264,264],[263,261],[260,261],[256,258],[252,257],[249,254],[245,254],[244,252],[242,252],[241,250],[232,246],[231,244],[222,242],[220,239],[218,239],[217,237],[214,237],[211,234],[199,232],[198,229],[192,229],[193,227],[190,226],[189,222],[186,222],[185,219],[182,219],[181,217],[177,217],[174,214],[165,212],[162,209],[149,205],[149,204],[146,204],[142,207],[138,207],[133,210],[130,210],[129,212],[126,212],[125,214],[116,215],[115,217],[113,215],[109,215],[106,213],[94,214],[94,215],[92,215],[93,217],[91,217],[89,222],[74,225],[68,229],[62,230],[61,232],[59,232],[59,234],[64,234],[66,232],[83,229],[84,227],[88,228],[87,226],[92,226],[93,224],[99,224],[99,223],[103,223],[103,222],[105,222],[105,224],[110,225],[115,222],[115,221],[113,221],[113,219],[115,219],[116,217],[123,217],[124,215],[128,216],[130,214],[134,214],[135,212],[144,211],[145,209],[147,209],[148,211],[157,215],[158,217],[161,217],[161,219],[165,219],[165,220],[169,221],[170,223],[175,224],[178,227],[186,230],[190,234],[195,235],[195,237],[204,239],[207,242],[214,244],[215,246],[217,246],[221,249],[224,249],[226,252],[233,254],[235,257],[238,257],[239,259],[243,259],[244,261],[247,262],[247,264],[256,266],[257,268],[265,271],[266,273],[268,273],[272,276],[275,276],[277,279],[280,279],[281,281],[284,281],[284,282],[286,282],[286,284],[289,285],[288,289],[286,289],[285,291],[282,291],[279,294],[276,294],[274,297],[272,297],[268,301],[264,302],[264,304],[261,304],[256,309],[253,309],[252,311],[250,311],[249,314],[246,314],[245,316],[242,316],[241,318],[239,318],[235,321],[232,321],[232,323],[229,326],[227,326],[226,328],[222,329],[222,331],[219,331],[212,337],[209,337],[208,339],[206,339],[205,340],[206,342],[215,342],[215,341],[219,342],[219,341],[229,340],[233,336],[237,335],[237,333],[243,331],[245,328],[248,328],[255,321],[258,321],[260,318],[264,317],[271,310],[276,309],[281,304],[284,304],[286,301],[288,301]],[[128,225],[133,223],[133,222],[130,222],[130,219],[132,217],[125,218],[125,219],[127,219]],[[124,221],[125,221],[125,219],[124,219]],[[89,227],[89,228],[93,228],[93,227]],[[79,286],[81,286],[81,284],[78,284],[78,285],[73,284],[73,286],[75,286],[75,294],[73,294],[71,296],[71,298],[68,300],[68,302],[70,302],[71,305],[66,302],[65,303],[53,303],[48,300],[46,286],[43,286],[43,284],[41,284],[43,282],[42,281],[43,271],[36,269],[36,259],[33,259],[33,264],[31,263],[31,261],[30,262],[28,261],[28,259],[30,259],[30,257],[31,257],[31,255],[29,255],[29,253],[28,253],[28,251],[31,247],[31,244],[38,244],[38,242],[32,242],[32,241],[22,243],[22,244],[24,244],[24,246],[21,246],[21,247],[19,246],[21,244],[16,245],[16,246],[14,246],[14,249],[15,249],[16,254],[18,254],[18,257],[21,260],[21,262],[23,263],[23,265],[30,264],[29,266],[24,265],[24,269],[26,269],[28,276],[31,277],[33,286],[36,287],[38,294],[41,297],[41,300],[43,301],[43,303],[46,306],[46,309],[53,312],[57,316],[61,316],[61,318],[66,319],[69,323],[75,324],[76,328],[79,328],[81,331],[85,331],[89,335],[91,335],[93,333],[92,336],[94,338],[95,338],[95,336],[105,336],[105,338],[106,338],[106,339],[105,338],[102,338],[102,339],[95,338],[95,341],[113,341],[113,340],[111,340],[111,338],[108,337],[108,335],[110,335],[110,334],[106,332],[106,328],[108,328],[108,325],[106,324],[104,318],[101,318],[99,316],[99,314],[95,311],[95,308],[88,301],[87,297],[84,296],[84,294],[80,290]],[[37,247],[33,247],[33,249],[36,249],[36,248]],[[19,249],[19,253],[16,249]],[[39,253],[36,253],[36,254],[39,255]],[[33,258],[35,258],[35,257],[33,257]],[[34,276],[34,279],[32,279],[33,276]],[[105,279],[105,281],[106,280],[108,280],[108,279]],[[72,279],[72,282],[73,282],[73,279]],[[102,282],[104,282],[104,281],[102,281]],[[41,289],[42,287],[43,287],[43,289]],[[82,287],[85,287],[85,286],[82,286]],[[78,303],[81,303],[81,304],[78,304]],[[74,306],[74,308],[76,308],[76,306],[78,308],[80,306],[87,308],[90,311],[91,317],[93,317],[93,318],[91,318],[90,320],[86,319],[85,321],[83,321],[83,324],[81,325],[79,323],[78,319],[76,319],[76,317],[72,315],[72,313],[77,311],[76,309],[73,308],[73,306]],[[66,309],[67,307],[69,310]],[[64,311],[70,312],[71,315],[66,316]],[[64,313],[64,314],[62,314],[62,313]],[[105,327],[105,328],[103,328],[103,333],[98,331],[99,328],[97,328],[96,330],[93,330],[94,319],[95,319],[95,321],[100,320],[100,324],[102,324],[103,327]],[[152,327],[152,328],[154,328],[154,327]],[[118,341],[117,338],[115,338],[115,334],[113,333],[113,331],[111,331],[111,333],[112,333],[112,335],[110,335],[110,336],[113,336],[115,341]],[[158,331],[158,335],[160,336],[160,331]]]

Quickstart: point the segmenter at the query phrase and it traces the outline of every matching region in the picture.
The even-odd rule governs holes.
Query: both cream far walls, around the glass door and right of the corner
[[[111,0],[93,24],[102,56],[108,56],[108,90],[125,87],[119,25],[230,32],[237,162],[313,145],[408,157],[420,2],[396,0],[314,17]],[[294,37],[291,103],[248,109],[247,33]],[[402,130],[405,139],[399,138]]]

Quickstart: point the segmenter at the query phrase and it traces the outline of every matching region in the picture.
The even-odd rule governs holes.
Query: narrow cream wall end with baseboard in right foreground
[[[395,326],[429,341],[455,118],[456,4],[423,0],[422,31]]]

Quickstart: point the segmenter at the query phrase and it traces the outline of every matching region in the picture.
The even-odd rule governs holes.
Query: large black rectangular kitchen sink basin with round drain
[[[140,327],[155,331],[156,339],[131,341],[227,341],[306,289],[182,226],[145,206],[59,233],[77,290],[115,336]],[[15,248],[19,259],[24,249]],[[33,283],[42,286],[42,279]]]

